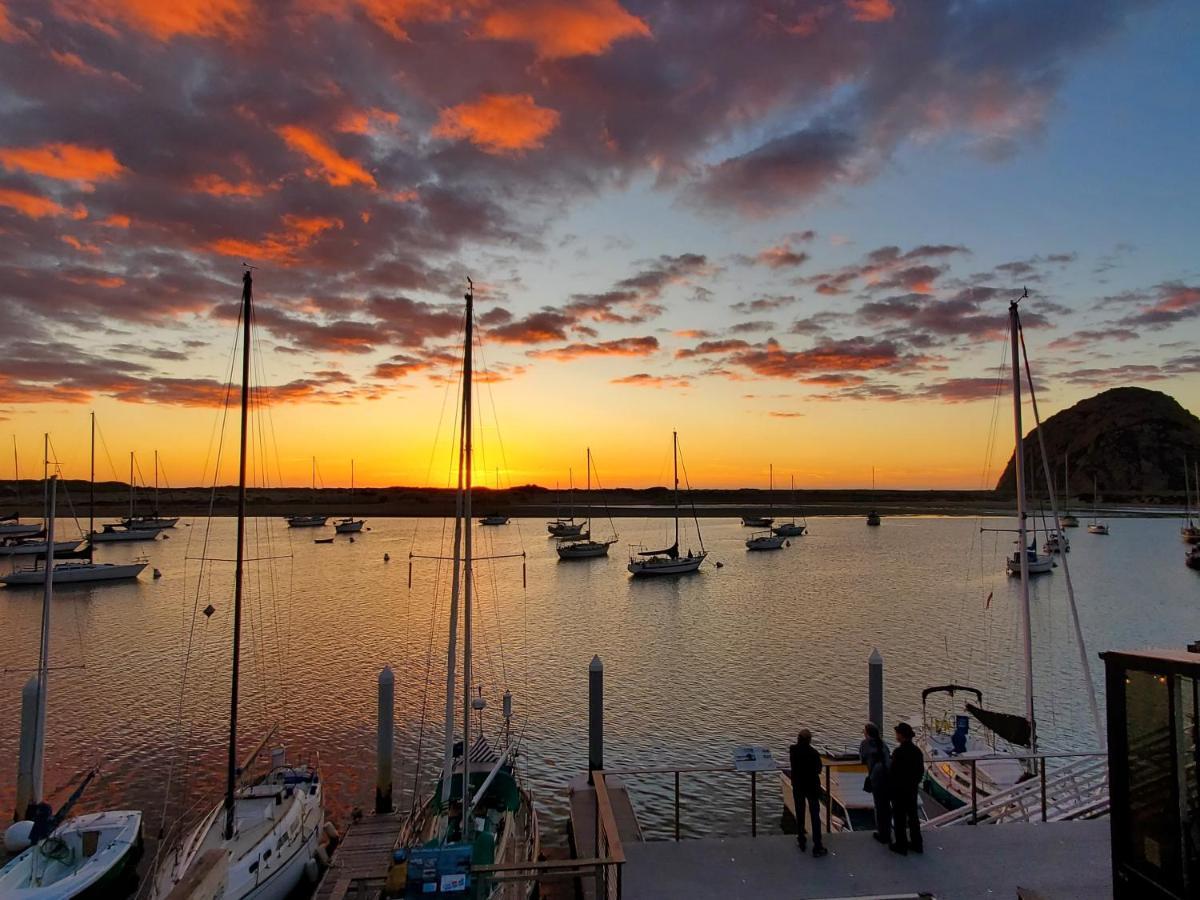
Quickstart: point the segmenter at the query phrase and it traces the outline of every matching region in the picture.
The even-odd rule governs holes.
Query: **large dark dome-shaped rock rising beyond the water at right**
[[[1184,460],[1200,457],[1200,419],[1174,397],[1145,388],[1114,388],[1055,413],[1042,427],[1046,455],[1062,493],[1063,460],[1070,458],[1070,494],[1100,497],[1183,494]],[[1037,430],[1025,437],[1026,460],[1037,468],[1034,484],[1044,493]],[[1013,457],[996,490],[1012,493]],[[1193,485],[1193,490],[1195,486]]]

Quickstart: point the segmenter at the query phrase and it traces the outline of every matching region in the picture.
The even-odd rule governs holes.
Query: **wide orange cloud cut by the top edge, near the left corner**
[[[83,22],[107,34],[118,25],[160,41],[178,36],[235,37],[250,20],[251,0],[55,0],[60,18]]]

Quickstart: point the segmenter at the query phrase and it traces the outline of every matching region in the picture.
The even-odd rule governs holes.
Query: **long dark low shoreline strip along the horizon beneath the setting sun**
[[[138,488],[136,510],[150,511],[151,491]],[[252,516],[286,516],[295,512],[316,512],[343,516],[353,510],[362,517],[434,517],[454,515],[454,491],[449,488],[385,487],[360,488],[353,504],[348,488],[258,488],[248,490],[247,511]],[[22,516],[41,515],[42,486],[40,481],[22,480],[19,508],[12,481],[0,481],[0,512],[19,511]],[[84,517],[88,514],[89,485],[86,481],[61,482],[59,515]],[[474,512],[479,516],[502,512],[516,517],[553,518],[569,515],[569,492],[560,493],[538,486],[494,491],[478,487]],[[163,515],[203,516],[210,510],[215,516],[232,516],[236,511],[236,488],[221,486],[215,496],[211,488],[163,488],[158,494]],[[575,512],[584,509],[584,492],[574,494]],[[592,510],[596,518],[661,517],[671,515],[672,492],[666,487],[608,488],[592,492]],[[1072,498],[1072,510],[1084,518],[1091,510],[1091,497]],[[1183,498],[1106,494],[1102,498],[1104,516],[1178,516]],[[875,509],[887,516],[978,516],[1012,515],[1010,498],[994,491],[863,491],[828,490],[797,491],[796,504],[791,493],[774,493],[756,488],[727,491],[691,491],[680,494],[682,512],[702,518],[737,518],[743,514],[763,515],[770,509],[776,520],[786,520],[794,510],[797,516],[856,516]],[[128,512],[128,485],[106,481],[96,485],[96,517],[115,518]]]

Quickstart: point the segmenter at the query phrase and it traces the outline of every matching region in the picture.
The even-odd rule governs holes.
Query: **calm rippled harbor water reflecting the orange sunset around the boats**
[[[476,553],[527,553],[476,572],[476,678],[499,727],[514,692],[523,769],[542,806],[545,840],[562,840],[566,781],[586,768],[587,666],[606,670],[606,766],[726,764],[738,744],[776,757],[800,725],[821,744],[857,743],[866,658],[886,660],[886,715],[919,714],[919,692],[947,680],[983,688],[989,706],[1024,703],[1016,583],[1003,574],[1010,535],[980,533],[1001,518],[862,517],[810,521],[811,534],[774,553],[746,553],[736,520],[702,522],[712,556],[702,574],[632,581],[626,545],[664,546],[665,520],[619,520],[607,559],[560,563],[541,521],[478,529]],[[60,528],[70,528],[62,522]],[[445,564],[440,521],[372,520],[355,542],[250,526],[241,744],[280,724],[294,757],[319,754],[331,815],[370,809],[374,787],[376,677],[396,672],[397,804],[412,798],[418,760],[438,764],[444,704]],[[1174,520],[1116,518],[1112,535],[1070,533],[1072,576],[1099,685],[1108,648],[1181,646],[1200,637],[1200,577],[1183,566]],[[596,524],[604,533],[607,526]],[[47,788],[79,772],[102,776],[80,809],[146,812],[154,839],[167,817],[221,791],[228,716],[233,520],[184,520],[169,539],[108,545],[101,560],[146,553],[140,581],[60,587],[52,613]],[[205,536],[208,547],[204,547]],[[692,544],[692,546],[697,546]],[[686,542],[684,544],[686,547]],[[384,562],[384,553],[391,556]],[[269,558],[269,559],[268,559]],[[718,569],[714,563],[722,563]],[[439,571],[439,565],[440,571]],[[1046,749],[1094,745],[1060,568],[1034,582],[1039,732]],[[991,594],[990,605],[988,602]],[[193,607],[216,607],[211,618]],[[0,808],[13,805],[22,684],[37,665],[38,589],[0,589]],[[192,628],[193,619],[196,622]],[[185,666],[186,660],[186,666]],[[185,684],[186,671],[186,684]],[[182,690],[181,690],[182,688]],[[1102,697],[1103,702],[1103,697]],[[424,740],[421,738],[424,731]],[[671,827],[670,776],[634,779],[650,834]],[[760,791],[762,827],[778,822],[774,785]],[[685,834],[738,832],[744,781],[685,776]]]

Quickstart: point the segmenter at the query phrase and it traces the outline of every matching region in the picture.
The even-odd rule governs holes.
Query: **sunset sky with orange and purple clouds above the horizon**
[[[102,478],[199,482],[247,262],[287,484],[444,484],[470,275],[487,482],[665,484],[678,428],[704,487],[979,487],[1022,287],[1044,414],[1200,412],[1198,47],[1187,0],[0,0],[0,434],[85,476],[95,409]]]

